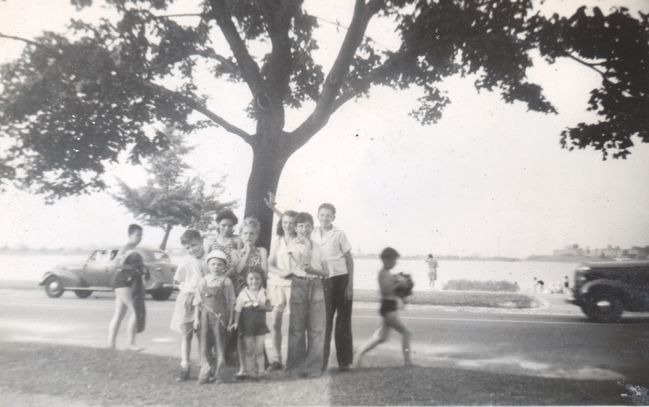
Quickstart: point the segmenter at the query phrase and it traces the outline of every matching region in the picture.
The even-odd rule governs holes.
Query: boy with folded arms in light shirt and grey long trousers
[[[299,213],[297,233],[291,253],[295,263],[306,273],[292,276],[286,369],[301,376],[318,377],[322,373],[324,334],[327,312],[322,279],[329,276],[320,247],[311,241],[313,217]]]

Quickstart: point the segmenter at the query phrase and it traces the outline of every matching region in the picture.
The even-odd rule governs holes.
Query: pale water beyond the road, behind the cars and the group
[[[87,255],[0,254],[0,280],[27,280],[37,283],[43,274],[57,264],[82,264]],[[172,257],[174,263],[182,257]],[[534,277],[550,287],[572,277],[578,263],[534,261],[439,260],[438,287],[449,280],[507,280],[517,282],[523,291],[532,290]],[[378,259],[355,259],[354,287],[378,290],[376,275],[381,268]],[[415,281],[415,291],[428,290],[428,265],[423,260],[400,260],[395,271],[409,273]],[[1,283],[0,283],[1,284]]]

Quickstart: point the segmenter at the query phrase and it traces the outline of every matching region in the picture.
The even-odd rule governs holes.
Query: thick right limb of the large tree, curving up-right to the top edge
[[[373,12],[376,11],[378,11],[378,8],[369,9],[364,0],[356,0],[352,21],[338,51],[338,56],[325,79],[320,98],[309,117],[292,132],[295,137],[293,146],[295,149],[301,147],[313,137],[327,123],[335,110],[336,96],[344,83],[356,50],[363,40],[367,25],[374,15]],[[346,98],[347,100],[351,99],[351,97]]]

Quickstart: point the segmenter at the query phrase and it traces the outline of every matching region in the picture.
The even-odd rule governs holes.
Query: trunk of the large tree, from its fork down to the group
[[[261,231],[257,245],[269,249],[274,230],[273,211],[266,206],[264,198],[268,192],[277,192],[279,177],[290,153],[280,147],[281,143],[278,137],[267,137],[264,141],[266,143],[262,142],[253,149],[252,170],[246,192],[245,216],[253,216],[259,220]]]

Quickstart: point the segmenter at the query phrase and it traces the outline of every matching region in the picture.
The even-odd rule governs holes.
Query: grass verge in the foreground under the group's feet
[[[317,379],[176,383],[177,360],[125,351],[3,343],[0,394],[43,405],[595,405],[626,404],[612,381],[451,368],[367,368]],[[194,372],[194,376],[195,376]],[[231,377],[233,372],[228,372]],[[8,399],[5,399],[8,400]],[[26,403],[21,403],[26,404]]]

